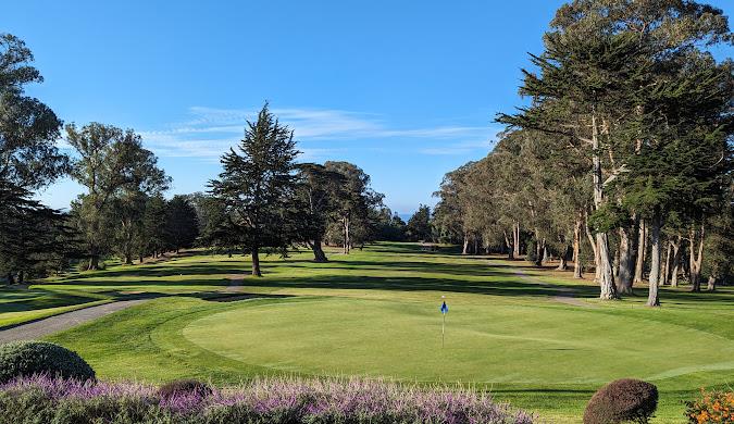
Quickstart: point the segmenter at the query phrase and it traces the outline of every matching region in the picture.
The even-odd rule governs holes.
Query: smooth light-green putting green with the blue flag
[[[716,371],[734,369],[734,341],[675,323],[553,304],[450,308],[444,348],[438,303],[421,301],[245,302],[192,321],[183,335],[250,365],[421,382],[568,386],[707,372],[714,384],[731,375],[713,381]]]

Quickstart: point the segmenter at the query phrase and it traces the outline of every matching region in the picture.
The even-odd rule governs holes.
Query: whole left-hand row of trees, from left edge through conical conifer
[[[0,35],[0,279],[23,284],[78,264],[124,264],[199,246],[252,255],[307,247],[326,261],[323,245],[344,253],[376,239],[403,240],[406,224],[383,204],[370,176],[348,162],[297,162],[293,132],[268,105],[248,124],[238,148],[204,194],[164,192],[171,177],[133,129],[64,125],[25,87],[41,83],[25,43]],[[57,145],[63,138],[71,154]],[[84,192],[69,212],[35,200],[67,176]]]

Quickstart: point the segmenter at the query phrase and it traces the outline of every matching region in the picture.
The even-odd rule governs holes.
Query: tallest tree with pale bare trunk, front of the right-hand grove
[[[644,99],[655,98],[656,75],[671,58],[722,39],[731,35],[721,11],[693,1],[573,1],[557,12],[544,53],[532,57],[539,72],[524,71],[521,93],[533,103],[517,115],[499,116],[587,147],[596,215],[590,241],[602,299],[618,297],[609,232],[619,217],[609,215],[626,195],[611,191],[610,184],[630,171],[629,159],[645,144],[636,125],[651,112]]]

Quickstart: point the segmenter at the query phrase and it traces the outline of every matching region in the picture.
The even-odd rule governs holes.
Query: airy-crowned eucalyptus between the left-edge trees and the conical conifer
[[[87,244],[87,269],[96,270],[110,242],[109,228],[104,226],[127,225],[132,232],[132,214],[139,217],[137,211],[112,209],[112,203],[125,197],[137,199],[139,194],[161,191],[170,179],[158,167],[155,155],[142,148],[140,136],[132,129],[123,132],[100,123],[77,128],[71,124],[66,126],[66,140],[78,155],[71,175],[87,189],[74,208]]]

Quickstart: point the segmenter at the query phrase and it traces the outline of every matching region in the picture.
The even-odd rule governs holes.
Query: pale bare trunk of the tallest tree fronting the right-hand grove
[[[592,113],[592,141],[594,149],[594,207],[598,210],[604,203],[604,183],[601,182],[601,159],[599,158],[599,128],[596,122],[596,112]],[[619,299],[614,275],[609,255],[609,235],[605,232],[596,233],[596,249],[599,255],[599,298],[605,300]]]

